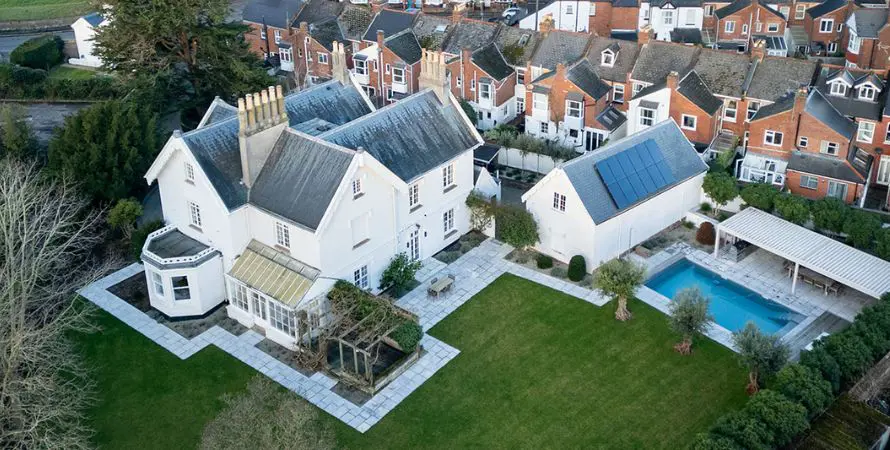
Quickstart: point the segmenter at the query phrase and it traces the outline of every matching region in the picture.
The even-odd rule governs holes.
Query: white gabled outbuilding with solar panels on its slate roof
[[[563,163],[522,196],[535,248],[587,269],[622,255],[701,201],[708,166],[672,120]]]

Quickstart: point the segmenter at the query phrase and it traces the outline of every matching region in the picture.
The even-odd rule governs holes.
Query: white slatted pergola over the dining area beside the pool
[[[757,208],[746,208],[717,225],[714,256],[721,235],[731,235],[794,263],[791,292],[800,266],[874,298],[890,292],[890,262]]]

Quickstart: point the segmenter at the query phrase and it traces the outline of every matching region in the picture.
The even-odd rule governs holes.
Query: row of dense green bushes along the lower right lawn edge
[[[818,341],[785,366],[740,411],[721,417],[694,449],[768,449],[787,445],[890,351],[890,293],[864,308],[844,331]]]

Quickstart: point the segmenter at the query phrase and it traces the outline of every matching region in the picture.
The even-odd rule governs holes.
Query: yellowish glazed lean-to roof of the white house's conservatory
[[[318,278],[319,271],[256,240],[235,261],[229,276],[293,307]]]

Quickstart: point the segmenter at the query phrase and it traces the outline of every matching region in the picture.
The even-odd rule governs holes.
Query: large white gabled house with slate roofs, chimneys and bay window
[[[216,100],[168,140],[145,175],[167,225],[143,247],[153,307],[201,316],[228,301],[230,317],[291,347],[336,280],[377,291],[398,253],[424,259],[469,231],[482,138],[444,64],[424,61],[424,89],[375,111],[335,56],[334,80]]]

